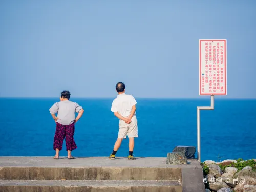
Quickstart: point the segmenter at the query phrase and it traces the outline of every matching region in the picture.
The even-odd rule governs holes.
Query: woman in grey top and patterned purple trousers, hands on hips
[[[59,151],[62,149],[64,137],[66,137],[66,150],[68,151],[68,159],[74,159],[71,151],[77,148],[74,141],[75,123],[83,114],[83,108],[77,103],[72,102],[69,91],[62,91],[60,102],[54,103],[50,108],[50,113],[56,122],[56,132],[54,136],[53,149],[56,151],[54,159],[59,159]],[[75,112],[78,113],[75,118]],[[58,114],[56,117],[55,114]]]

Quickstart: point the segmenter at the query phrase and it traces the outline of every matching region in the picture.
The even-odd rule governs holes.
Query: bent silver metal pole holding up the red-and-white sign
[[[210,96],[210,106],[197,107],[197,160],[201,162],[200,110],[214,110],[214,95]]]

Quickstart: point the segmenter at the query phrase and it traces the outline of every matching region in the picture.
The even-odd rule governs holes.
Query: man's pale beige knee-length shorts
[[[136,116],[133,116],[131,119],[131,123],[127,124],[123,120],[119,120],[119,132],[118,138],[126,139],[128,135],[129,138],[131,137],[139,137],[138,136],[138,124]]]

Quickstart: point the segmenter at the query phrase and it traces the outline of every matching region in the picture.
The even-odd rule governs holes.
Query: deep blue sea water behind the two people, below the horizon
[[[71,99],[84,108],[75,126],[73,156],[108,156],[118,133],[113,99]],[[166,157],[177,145],[197,146],[197,106],[210,99],[136,99],[139,138],[135,156]],[[58,99],[0,99],[1,156],[54,156],[55,122],[49,108]],[[256,158],[256,100],[215,99],[201,111],[201,160]],[[128,153],[127,139],[117,156]],[[66,156],[63,143],[61,156]]]

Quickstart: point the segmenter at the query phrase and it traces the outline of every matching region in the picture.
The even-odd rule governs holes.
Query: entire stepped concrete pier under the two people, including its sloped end
[[[0,191],[172,191],[204,192],[196,159],[168,165],[166,158],[0,157]]]

